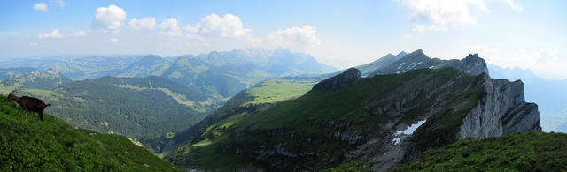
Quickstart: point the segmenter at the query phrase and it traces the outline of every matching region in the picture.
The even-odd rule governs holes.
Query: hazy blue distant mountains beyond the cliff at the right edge
[[[561,128],[567,126],[567,80],[543,79],[528,69],[489,65],[488,70],[494,79],[522,79],[525,99],[538,102],[543,130],[567,132]]]

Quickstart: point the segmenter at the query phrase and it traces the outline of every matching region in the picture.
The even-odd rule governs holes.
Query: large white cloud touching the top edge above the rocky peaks
[[[443,31],[476,23],[470,7],[488,11],[484,0],[400,0],[400,4],[412,10],[409,19],[416,32]]]

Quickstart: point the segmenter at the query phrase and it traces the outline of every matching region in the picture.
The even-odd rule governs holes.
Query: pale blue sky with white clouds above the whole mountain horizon
[[[423,49],[567,79],[566,8],[563,0],[3,1],[0,58],[286,48],[344,69]]]

